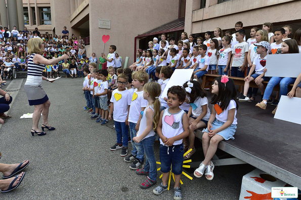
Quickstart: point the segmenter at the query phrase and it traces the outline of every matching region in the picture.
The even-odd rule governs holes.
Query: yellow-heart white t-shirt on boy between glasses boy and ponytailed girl
[[[134,94],[132,95],[132,103],[130,108],[130,113],[128,114],[128,121],[137,124],[139,120],[139,116],[141,114],[142,109],[145,108],[148,102],[143,98],[143,90],[137,91],[134,90]]]

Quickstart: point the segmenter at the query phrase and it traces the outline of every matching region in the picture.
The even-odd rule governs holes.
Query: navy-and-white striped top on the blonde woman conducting
[[[25,85],[42,85],[42,72],[45,70],[45,65],[35,64],[33,57],[35,54],[31,54],[28,59],[27,66],[27,80]]]

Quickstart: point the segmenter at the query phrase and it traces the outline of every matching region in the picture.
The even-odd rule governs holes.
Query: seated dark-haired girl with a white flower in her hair
[[[189,145],[186,138],[183,138],[184,151],[192,149],[184,159],[189,159],[194,153],[194,130],[198,128],[206,128],[210,118],[210,110],[208,108],[207,94],[201,88],[198,81],[187,81],[183,87],[190,99],[189,117]]]

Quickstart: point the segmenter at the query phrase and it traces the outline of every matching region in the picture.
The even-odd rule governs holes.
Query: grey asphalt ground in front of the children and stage
[[[13,84],[17,80],[21,81],[13,80],[7,86],[19,89],[13,88],[18,87]],[[34,109],[28,105],[23,89],[25,80],[9,111],[13,117],[1,127],[0,151],[2,163],[27,159],[31,163],[22,184],[12,192],[0,194],[1,199],[173,199],[173,190],[156,196],[152,193],[155,186],[140,189],[145,177],[128,168],[129,164],[120,157],[121,149],[110,151],[116,141],[113,122],[101,126],[83,111],[82,78],[43,82],[52,103],[49,120],[56,130],[32,137],[32,120],[19,119]],[[131,151],[131,144],[129,147]],[[159,161],[159,142],[154,148]],[[202,152],[192,157],[193,161],[202,159]],[[253,169],[247,164],[216,167],[212,181],[195,178],[193,170],[186,170],[193,180],[182,176],[183,199],[238,199],[242,176]],[[158,178],[156,185],[160,182]]]

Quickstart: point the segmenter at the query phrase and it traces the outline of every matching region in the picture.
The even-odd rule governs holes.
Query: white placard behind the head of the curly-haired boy
[[[167,90],[175,85],[183,86],[186,81],[189,81],[193,73],[193,69],[176,69],[171,75],[161,98],[167,97]]]

